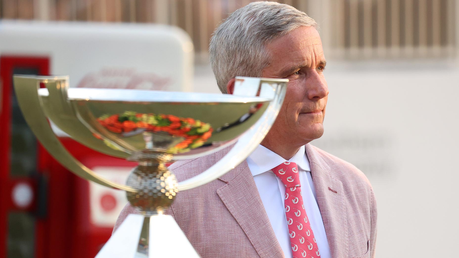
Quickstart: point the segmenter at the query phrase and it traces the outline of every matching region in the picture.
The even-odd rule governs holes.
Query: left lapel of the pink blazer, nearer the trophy
[[[260,258],[284,257],[247,162],[244,161],[219,179],[227,184],[217,190],[218,196],[244,230]]]

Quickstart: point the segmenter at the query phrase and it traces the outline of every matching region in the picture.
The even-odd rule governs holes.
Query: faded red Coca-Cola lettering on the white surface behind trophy
[[[155,73],[138,73],[129,68],[103,68],[88,73],[78,83],[78,88],[167,90],[171,79]]]

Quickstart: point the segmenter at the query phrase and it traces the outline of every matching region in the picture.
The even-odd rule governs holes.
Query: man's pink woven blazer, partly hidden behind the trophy
[[[178,161],[169,169],[179,181],[188,179],[211,167],[230,148]],[[352,164],[310,144],[306,154],[332,257],[374,257],[377,212],[368,179]],[[136,210],[128,204],[113,231],[129,213]],[[167,213],[202,258],[284,257],[245,161],[217,180],[179,192]]]

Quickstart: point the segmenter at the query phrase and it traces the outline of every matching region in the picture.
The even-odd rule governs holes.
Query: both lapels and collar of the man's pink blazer
[[[224,157],[231,147],[217,151],[215,161]],[[346,257],[348,230],[343,185],[340,180],[331,177],[330,166],[313,146],[307,144],[305,149],[331,255],[334,258]],[[244,160],[219,179],[227,184],[217,190],[218,196],[244,230],[258,255],[261,258],[284,257],[247,162]]]

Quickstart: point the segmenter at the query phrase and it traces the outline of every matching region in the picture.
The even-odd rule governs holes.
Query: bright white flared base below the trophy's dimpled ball
[[[170,215],[130,214],[95,258],[199,258]]]

